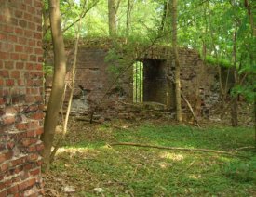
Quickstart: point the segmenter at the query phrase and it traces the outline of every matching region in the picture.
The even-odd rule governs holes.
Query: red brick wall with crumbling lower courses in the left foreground
[[[40,196],[40,0],[0,0],[0,196]]]

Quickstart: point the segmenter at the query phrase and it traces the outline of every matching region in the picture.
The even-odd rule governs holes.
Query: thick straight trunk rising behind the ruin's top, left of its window
[[[111,37],[114,37],[116,34],[115,0],[108,0],[108,18],[109,18],[109,35]]]

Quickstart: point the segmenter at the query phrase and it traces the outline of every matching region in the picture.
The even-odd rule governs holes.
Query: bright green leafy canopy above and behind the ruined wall
[[[45,2],[46,9],[47,1]],[[128,1],[120,1],[116,10],[117,35],[115,50],[110,51],[107,61],[111,66],[110,72],[115,75],[124,69],[125,64],[132,64],[132,51],[138,43],[149,46],[153,40],[168,46],[171,36],[171,19],[165,21],[164,32],[160,27],[164,14],[164,0],[131,0],[131,12],[127,29]],[[250,1],[251,7],[255,6]],[[251,35],[248,10],[242,1],[202,1],[180,0],[178,7],[178,43],[180,46],[194,48],[201,52],[206,49],[210,64],[230,67],[236,64],[239,74],[247,74],[247,83],[235,90],[248,98],[252,98],[254,83],[251,79],[256,70],[256,38]],[[169,7],[168,12],[171,11]],[[251,10],[255,15],[255,10]],[[66,39],[73,39],[75,34],[74,22],[82,14],[82,37],[108,36],[108,7],[107,1],[102,0],[61,0],[62,29]],[[255,21],[254,21],[255,23]],[[70,27],[71,25],[71,27]],[[66,28],[70,27],[68,30]],[[236,63],[234,62],[234,33],[236,33]],[[47,33],[45,40],[50,39]],[[122,41],[121,41],[122,40]],[[126,45],[124,46],[124,40]],[[121,41],[121,42],[119,42]],[[118,43],[119,42],[119,43]],[[125,52],[125,53],[123,53]],[[123,57],[124,54],[131,54]],[[218,62],[217,62],[218,59]],[[234,90],[234,91],[235,91]]]

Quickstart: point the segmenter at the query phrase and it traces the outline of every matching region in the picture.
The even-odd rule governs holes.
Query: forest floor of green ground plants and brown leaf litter
[[[254,128],[161,120],[89,125],[71,120],[69,134],[44,175],[46,196],[256,196]],[[113,125],[123,126],[123,129]],[[172,151],[133,146],[233,151]]]

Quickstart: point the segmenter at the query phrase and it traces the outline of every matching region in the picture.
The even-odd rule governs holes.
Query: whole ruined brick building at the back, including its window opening
[[[100,43],[100,44],[99,44]],[[97,103],[102,102],[103,111],[118,109],[121,102],[142,102],[160,103],[165,110],[175,112],[175,86],[171,79],[174,77],[174,59],[171,48],[167,46],[151,46],[139,51],[134,47],[132,55],[127,58],[126,52],[120,56],[120,62],[116,59],[109,60],[109,54],[115,46],[108,42],[103,43],[95,40],[86,41],[81,44],[77,54],[77,65],[74,89],[74,107],[76,110],[86,111]],[[125,47],[125,46],[124,46]],[[136,51],[137,50],[137,51]],[[67,46],[68,67],[74,60],[74,46]],[[181,61],[182,93],[190,101],[197,115],[202,116],[209,113],[210,105],[218,100],[218,87],[216,87],[216,74],[214,67],[207,67],[199,54],[192,49],[180,48],[179,56]],[[139,64],[138,64],[139,62]],[[52,64],[52,58],[48,56],[47,64]],[[141,84],[135,87],[134,71],[135,65],[142,65]],[[116,69],[126,72],[115,81]],[[135,69],[135,70],[134,70]],[[67,82],[71,80],[71,73],[67,73]],[[47,87],[50,88],[50,79],[47,80]],[[134,91],[138,89],[137,93]],[[141,97],[136,100],[135,94]],[[106,96],[104,96],[106,94]],[[102,99],[104,98],[104,99]],[[102,101],[101,101],[102,99]],[[118,104],[119,103],[119,104]],[[187,112],[186,104],[182,103],[183,112]],[[115,116],[115,114],[113,114]]]

